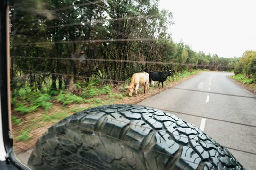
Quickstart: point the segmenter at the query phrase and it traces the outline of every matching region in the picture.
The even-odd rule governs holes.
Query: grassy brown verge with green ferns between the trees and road
[[[93,88],[87,92],[84,89],[85,91],[80,94],[72,94],[69,90],[38,92],[38,97],[50,96],[47,98],[48,100],[45,100],[45,102],[52,103],[52,105],[47,105],[48,107],[43,107],[37,104],[37,101],[33,101],[31,96],[35,94],[27,87],[26,91],[28,93],[24,95],[27,96],[27,100],[21,100],[21,97],[16,97],[12,101],[12,134],[14,136],[14,142],[19,147],[26,146],[26,149],[31,148],[33,143],[37,141],[38,136],[46,132],[47,128],[50,128],[53,124],[63,120],[65,117],[71,116],[73,113],[107,104],[136,104],[147,97],[175,86],[178,82],[197,73],[199,73],[199,70],[191,70],[190,72],[183,70],[182,73],[168,77],[164,82],[164,88],[161,88],[161,85],[158,87],[158,82],[155,82],[155,86],[149,86],[149,91],[144,94],[143,86],[140,86],[138,95],[132,97],[129,97],[126,89],[124,89],[129,82],[118,84],[117,86],[103,86],[100,81],[90,81],[91,85],[93,84]],[[36,97],[34,100],[36,100]],[[15,109],[15,106],[20,107],[18,107],[19,109]],[[21,151],[21,149],[16,148],[17,153]]]

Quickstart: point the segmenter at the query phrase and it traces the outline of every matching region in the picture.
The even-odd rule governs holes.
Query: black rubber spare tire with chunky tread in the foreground
[[[244,169],[226,149],[175,115],[135,105],[73,114],[37,141],[31,169]]]

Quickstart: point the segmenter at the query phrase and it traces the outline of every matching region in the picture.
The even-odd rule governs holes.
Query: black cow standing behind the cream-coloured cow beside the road
[[[173,76],[175,70],[169,70],[169,71],[165,71],[165,72],[148,72],[149,73],[149,83],[151,84],[151,80],[154,81],[159,81],[158,83],[158,87],[160,82],[162,82],[162,88],[163,88],[163,83],[164,81],[166,81],[168,76]]]

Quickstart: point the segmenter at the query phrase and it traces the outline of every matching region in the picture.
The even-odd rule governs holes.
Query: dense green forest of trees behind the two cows
[[[155,0],[21,1],[10,18],[12,90],[41,90],[49,78],[49,88],[72,89],[78,80],[116,84],[144,71],[227,71],[240,59],[175,43],[172,12]]]

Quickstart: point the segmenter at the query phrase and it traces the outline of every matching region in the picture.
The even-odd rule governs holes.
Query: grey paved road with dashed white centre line
[[[172,113],[180,118],[198,127],[201,126],[205,133],[221,145],[241,150],[229,149],[245,168],[255,170],[256,155],[242,151],[256,153],[256,128],[230,122],[256,126],[256,99],[250,98],[256,96],[230,80],[228,75],[232,73],[201,72],[175,88],[165,90],[138,104],[174,111]],[[207,117],[205,126],[203,126],[204,119],[181,113]]]

